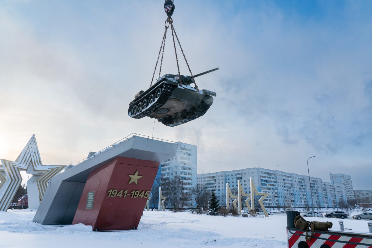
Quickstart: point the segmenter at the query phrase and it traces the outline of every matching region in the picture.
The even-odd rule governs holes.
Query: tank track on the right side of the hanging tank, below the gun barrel
[[[190,110],[191,113],[187,112],[187,111],[183,111],[182,113],[180,113],[178,115],[178,118],[181,118],[182,116],[185,116],[185,115],[189,114],[188,117],[183,118],[182,120],[179,120],[179,121],[173,121],[172,119],[174,117],[170,116],[166,119],[164,118],[163,120],[161,120],[161,123],[163,123],[164,125],[166,125],[168,127],[175,127],[175,126],[178,126],[178,125],[181,125],[181,124],[185,124],[189,121],[195,120],[196,118],[199,118],[202,115],[204,115],[208,111],[208,109],[212,105],[212,103],[213,103],[213,97],[209,96],[209,95],[205,95],[203,100],[202,100],[202,104],[199,105],[198,107],[194,107],[193,109],[191,109]]]

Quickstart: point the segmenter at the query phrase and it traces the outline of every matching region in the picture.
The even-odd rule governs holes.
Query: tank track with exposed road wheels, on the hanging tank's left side
[[[164,87],[164,88],[163,88]],[[170,96],[172,95],[173,93],[173,90],[176,88],[177,86],[175,85],[170,85],[168,83],[166,83],[166,81],[164,81],[163,84],[160,84],[160,86],[156,87],[154,90],[151,90],[150,92],[148,92],[146,95],[142,96],[140,99],[138,99],[134,104],[132,104],[131,106],[129,106],[129,109],[128,109],[128,115],[132,118],[135,118],[135,119],[141,119],[143,117],[146,117],[148,116],[149,114],[157,111],[159,108],[161,108],[167,101],[168,99],[170,98]],[[137,105],[138,103],[141,103],[144,99],[148,99],[150,97],[151,94],[154,94],[154,92],[156,92],[157,89],[162,89],[161,90],[161,94],[159,96],[159,98],[156,100],[156,102],[154,102],[150,108],[146,109],[145,111],[141,111],[139,114],[136,114],[136,115],[130,115],[131,111],[132,111],[132,108],[134,105]]]

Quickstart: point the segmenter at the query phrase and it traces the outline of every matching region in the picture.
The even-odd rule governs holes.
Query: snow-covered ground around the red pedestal
[[[150,211],[143,213],[137,230],[119,232],[92,232],[82,224],[43,226],[32,222],[34,215],[28,209],[0,212],[0,247],[287,247],[285,214],[243,218]],[[340,219],[306,219],[330,221],[331,230],[340,230]],[[368,233],[367,221],[352,215],[344,228]]]

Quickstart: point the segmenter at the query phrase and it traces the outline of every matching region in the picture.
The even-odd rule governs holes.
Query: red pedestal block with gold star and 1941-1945
[[[159,162],[118,157],[90,172],[72,224],[137,229],[158,168]]]

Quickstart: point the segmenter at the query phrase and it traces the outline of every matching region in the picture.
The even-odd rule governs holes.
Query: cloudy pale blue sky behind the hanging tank
[[[173,24],[208,112],[127,115],[164,34],[163,1],[0,1],[0,158],[35,134],[44,165],[131,133],[198,146],[198,173],[260,166],[372,190],[371,1],[182,1]],[[162,75],[177,74],[171,33]],[[180,51],[181,74],[189,75]],[[157,71],[158,74],[158,71]],[[156,76],[155,76],[156,77]]]

